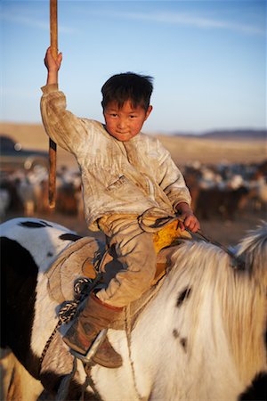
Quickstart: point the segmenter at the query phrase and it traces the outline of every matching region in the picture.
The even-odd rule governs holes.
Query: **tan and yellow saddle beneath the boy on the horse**
[[[157,253],[157,270],[152,282],[155,285],[165,274],[169,266],[171,247],[179,239],[191,239],[190,233],[182,231],[174,220],[158,232],[153,233],[154,247]],[[106,245],[92,237],[84,237],[75,241],[53,262],[46,272],[47,290],[51,299],[59,304],[74,299],[73,282],[81,277],[95,280],[101,273],[101,283],[109,281],[121,270],[115,250],[108,250]],[[101,272],[100,272],[101,271]]]

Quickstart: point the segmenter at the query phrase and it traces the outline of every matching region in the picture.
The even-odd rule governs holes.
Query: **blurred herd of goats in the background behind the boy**
[[[181,170],[190,188],[192,207],[201,219],[233,220],[248,208],[267,211],[267,160],[212,166],[196,161]],[[47,178],[43,168],[1,172],[1,219],[9,213],[32,217],[49,212]],[[79,171],[59,168],[56,183],[56,211],[84,218]]]

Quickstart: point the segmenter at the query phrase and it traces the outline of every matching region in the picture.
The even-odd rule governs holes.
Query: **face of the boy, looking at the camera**
[[[126,101],[123,107],[118,109],[117,102],[110,102],[104,110],[109,135],[114,136],[118,141],[129,141],[140,133],[151,110],[152,106],[149,106],[148,110],[144,110],[141,106],[134,108],[131,101]]]

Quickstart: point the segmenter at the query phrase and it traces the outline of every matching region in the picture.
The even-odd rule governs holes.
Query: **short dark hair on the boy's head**
[[[148,110],[153,91],[152,81],[152,77],[134,74],[134,72],[113,75],[101,87],[103,110],[109,102],[117,102],[118,108],[121,109],[128,100],[134,107],[141,106],[144,110]]]

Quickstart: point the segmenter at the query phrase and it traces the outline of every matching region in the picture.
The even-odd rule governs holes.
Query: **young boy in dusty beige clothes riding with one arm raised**
[[[156,271],[153,235],[144,232],[138,217],[184,218],[182,229],[199,229],[190,209],[190,192],[170,154],[154,137],[141,133],[152,106],[152,78],[134,73],[115,75],[102,86],[105,124],[80,119],[66,110],[57,87],[62,56],[45,54],[47,85],[42,88],[42,118],[46,132],[76,156],[81,171],[85,218],[91,230],[102,230],[115,246],[123,268],[105,289],[91,294],[85,309],[64,341],[85,355],[97,334],[117,320],[123,308],[150,288]],[[106,367],[119,367],[122,358],[106,338],[93,356]]]

